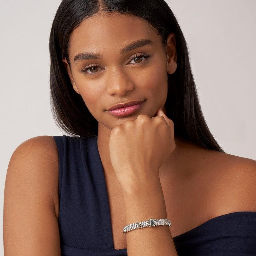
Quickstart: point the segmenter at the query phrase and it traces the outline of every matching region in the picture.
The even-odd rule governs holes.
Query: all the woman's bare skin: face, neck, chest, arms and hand
[[[223,214],[256,211],[255,161],[174,138],[164,103],[175,46],[173,34],[164,46],[140,18],[99,13],[73,31],[70,65],[63,59],[74,90],[99,121],[114,248],[132,256],[177,255],[172,237]],[[85,52],[94,58],[81,58]],[[133,115],[107,111],[137,100],[143,104]],[[60,255],[58,207],[56,144],[49,136],[32,138],[15,150],[7,171],[5,255]],[[123,234],[125,225],[149,218],[172,225]]]

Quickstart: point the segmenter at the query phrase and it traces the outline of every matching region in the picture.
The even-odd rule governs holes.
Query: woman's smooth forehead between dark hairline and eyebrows
[[[161,44],[157,30],[146,20],[129,14],[101,13],[85,19],[73,31],[69,54],[84,50],[103,53],[141,39]]]

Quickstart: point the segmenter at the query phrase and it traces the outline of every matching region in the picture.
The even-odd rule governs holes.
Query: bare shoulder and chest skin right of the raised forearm
[[[256,212],[256,161],[186,141],[176,145],[163,179],[167,216],[177,223],[173,235],[221,215]]]

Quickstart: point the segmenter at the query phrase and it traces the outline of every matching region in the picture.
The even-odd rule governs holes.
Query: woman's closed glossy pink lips
[[[136,110],[138,110],[143,102],[144,101],[133,101],[125,104],[117,104],[109,108],[107,111],[111,115],[117,117],[129,116],[133,114]]]

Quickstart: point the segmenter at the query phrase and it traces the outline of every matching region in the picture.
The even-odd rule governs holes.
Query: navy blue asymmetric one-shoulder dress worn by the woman
[[[97,138],[54,136],[59,155],[59,234],[65,256],[124,256],[113,245]],[[256,213],[216,217],[173,238],[179,256],[256,255]]]

